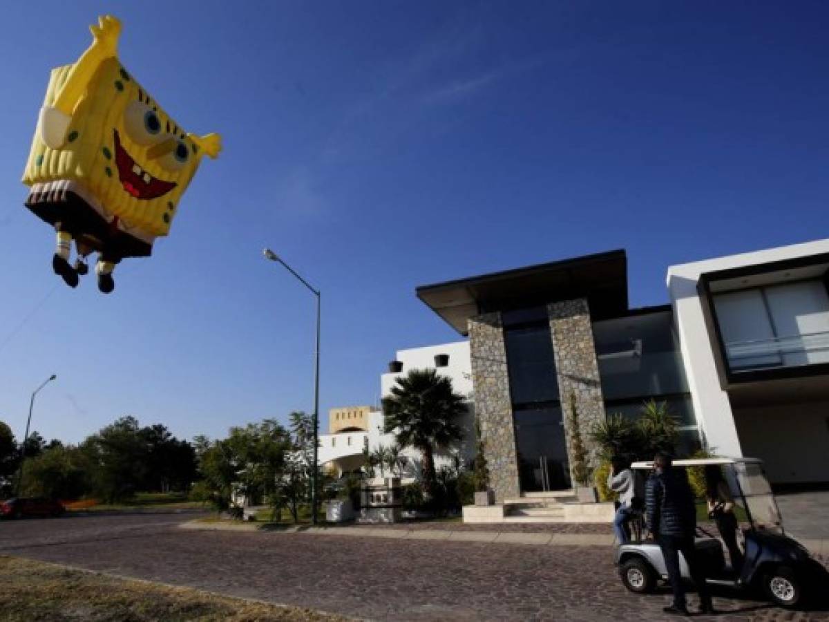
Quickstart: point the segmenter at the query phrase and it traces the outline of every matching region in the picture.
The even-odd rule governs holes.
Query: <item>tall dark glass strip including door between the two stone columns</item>
[[[505,313],[504,341],[524,492],[570,488],[550,325],[545,319],[533,321],[536,315],[532,310],[521,316]],[[531,321],[520,321],[526,319]]]

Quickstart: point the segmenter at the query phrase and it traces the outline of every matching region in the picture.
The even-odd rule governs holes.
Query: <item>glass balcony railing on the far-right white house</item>
[[[734,372],[829,363],[829,331],[725,344]]]

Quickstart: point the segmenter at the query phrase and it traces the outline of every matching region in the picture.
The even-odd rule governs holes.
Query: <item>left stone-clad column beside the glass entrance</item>
[[[496,502],[502,503],[520,496],[521,484],[501,313],[484,313],[469,320],[469,350],[489,485]]]

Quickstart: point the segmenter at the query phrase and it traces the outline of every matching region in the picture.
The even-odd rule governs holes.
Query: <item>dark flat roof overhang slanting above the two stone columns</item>
[[[528,309],[576,298],[588,299],[593,318],[628,311],[628,258],[624,250],[530,265],[415,289],[417,297],[458,333],[481,313]]]

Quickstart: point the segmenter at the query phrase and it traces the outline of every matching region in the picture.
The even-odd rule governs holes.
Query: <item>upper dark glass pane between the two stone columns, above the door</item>
[[[513,404],[557,401],[555,357],[550,326],[511,328],[504,332]]]

